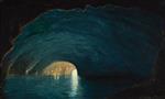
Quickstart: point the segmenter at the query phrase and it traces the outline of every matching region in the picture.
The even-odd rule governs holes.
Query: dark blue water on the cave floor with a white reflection
[[[7,79],[4,95],[7,99],[105,99],[127,86],[72,76],[13,76]]]

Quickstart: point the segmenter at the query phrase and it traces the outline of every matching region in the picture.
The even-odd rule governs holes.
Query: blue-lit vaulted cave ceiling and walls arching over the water
[[[41,73],[54,61],[67,61],[81,77],[150,77],[162,25],[160,16],[138,9],[51,10],[22,29],[3,58],[3,74]]]

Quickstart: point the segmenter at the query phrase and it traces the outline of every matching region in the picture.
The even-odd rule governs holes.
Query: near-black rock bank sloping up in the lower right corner
[[[165,99],[165,40],[161,44],[153,77],[144,82],[123,89],[110,99]]]

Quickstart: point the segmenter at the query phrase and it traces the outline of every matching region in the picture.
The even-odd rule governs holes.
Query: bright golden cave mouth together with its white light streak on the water
[[[56,81],[59,80],[61,77],[70,78],[69,96],[75,97],[78,95],[79,77],[74,64],[69,62],[54,62],[44,68],[43,75],[52,76],[54,79],[56,79]]]

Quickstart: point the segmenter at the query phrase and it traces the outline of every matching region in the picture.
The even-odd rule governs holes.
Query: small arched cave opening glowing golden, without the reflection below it
[[[53,62],[43,69],[42,74],[45,76],[53,76],[56,79],[61,77],[72,77],[76,79],[78,77],[76,66],[66,61]]]

